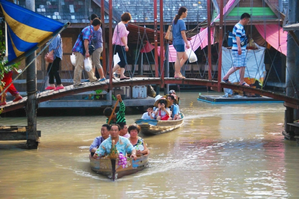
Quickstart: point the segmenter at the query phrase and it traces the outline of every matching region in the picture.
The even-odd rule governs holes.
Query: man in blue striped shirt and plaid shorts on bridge
[[[248,24],[250,20],[250,14],[243,13],[239,23],[234,26],[233,29],[233,47],[232,47],[232,57],[233,57],[233,67],[231,67],[226,75],[223,77],[223,81],[231,83],[229,81],[229,75],[231,75],[236,70],[239,70],[240,73],[240,82],[242,86],[249,86],[244,81],[245,67],[246,63],[246,44],[247,38],[244,30],[244,26]]]

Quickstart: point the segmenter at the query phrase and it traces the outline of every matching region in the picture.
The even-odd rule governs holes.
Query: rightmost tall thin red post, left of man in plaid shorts
[[[222,66],[222,40],[223,40],[223,0],[220,0],[220,19],[219,19],[219,56],[218,56],[218,92],[221,92],[221,66]]]

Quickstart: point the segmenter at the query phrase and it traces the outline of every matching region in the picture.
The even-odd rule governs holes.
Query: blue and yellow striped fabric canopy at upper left
[[[7,24],[7,65],[30,55],[64,26],[7,0],[0,0],[0,5]]]

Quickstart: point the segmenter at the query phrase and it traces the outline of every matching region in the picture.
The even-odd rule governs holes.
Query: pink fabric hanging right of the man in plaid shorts
[[[288,32],[283,30],[278,24],[255,25],[262,37],[276,50],[287,56],[287,36]],[[266,38],[265,38],[266,33]]]

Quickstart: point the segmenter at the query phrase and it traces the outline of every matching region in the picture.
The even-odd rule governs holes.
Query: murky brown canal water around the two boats
[[[210,104],[196,92],[178,95],[185,125],[141,135],[149,168],[116,182],[89,165],[89,146],[106,118],[39,117],[38,150],[0,142],[0,198],[299,198],[299,146],[282,135],[283,103]],[[138,117],[127,115],[128,124]],[[26,118],[0,122],[26,125]]]

